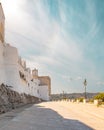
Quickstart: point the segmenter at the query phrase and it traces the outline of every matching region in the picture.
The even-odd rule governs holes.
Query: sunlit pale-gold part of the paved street
[[[65,119],[78,120],[94,130],[104,130],[104,107],[89,103],[52,102],[45,105]]]

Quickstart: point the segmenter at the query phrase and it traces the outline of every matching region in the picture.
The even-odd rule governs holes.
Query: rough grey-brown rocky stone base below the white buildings
[[[19,94],[13,91],[10,86],[1,84],[0,85],[0,114],[21,107],[26,104],[38,103],[37,97]]]

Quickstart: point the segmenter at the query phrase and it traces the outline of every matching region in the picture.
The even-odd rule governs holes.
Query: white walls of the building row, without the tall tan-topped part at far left
[[[12,86],[12,89],[19,93],[49,100],[48,86],[40,86],[40,81],[33,78],[30,69],[20,65],[18,60],[18,51],[15,47],[0,43],[0,84]],[[20,77],[19,72],[26,80]]]

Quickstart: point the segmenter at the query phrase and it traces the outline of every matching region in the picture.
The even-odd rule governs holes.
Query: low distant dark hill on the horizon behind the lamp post
[[[86,93],[86,96],[88,99],[93,98],[95,95],[97,95],[98,93]],[[67,99],[76,99],[76,98],[80,98],[80,97],[84,97],[85,93],[67,93],[67,94],[51,94],[51,100],[60,100],[63,98],[67,98]]]

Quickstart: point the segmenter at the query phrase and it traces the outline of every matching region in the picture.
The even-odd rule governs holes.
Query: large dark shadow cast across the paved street
[[[39,104],[18,110],[18,112],[14,110],[9,115],[15,116],[7,119],[8,122],[0,124],[0,130],[93,130],[78,120],[65,119],[56,111]],[[4,122],[5,117],[3,116]]]

